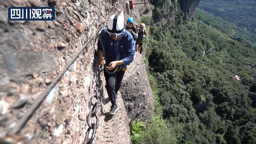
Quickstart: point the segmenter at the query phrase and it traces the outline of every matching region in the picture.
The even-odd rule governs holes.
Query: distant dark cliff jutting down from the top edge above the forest
[[[191,19],[200,0],[178,0],[178,2],[182,12],[189,12],[189,18]]]

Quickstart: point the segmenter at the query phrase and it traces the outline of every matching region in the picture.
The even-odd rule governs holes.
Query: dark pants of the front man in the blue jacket
[[[108,92],[108,97],[112,104],[116,105],[116,94],[121,87],[122,79],[124,77],[124,71],[119,70],[114,74],[109,74],[104,69],[104,76],[106,79],[106,89]]]

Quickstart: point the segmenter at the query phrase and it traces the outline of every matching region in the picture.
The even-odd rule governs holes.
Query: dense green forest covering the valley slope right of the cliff
[[[158,18],[170,8],[174,17],[150,26],[150,82],[161,110],[133,143],[255,144],[256,48],[247,41],[251,37],[202,10],[189,21],[176,0],[151,3]]]

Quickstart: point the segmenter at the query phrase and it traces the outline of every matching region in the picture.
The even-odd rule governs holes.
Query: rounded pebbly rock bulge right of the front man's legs
[[[127,73],[123,79],[121,94],[128,112],[130,122],[142,120],[149,123],[154,115],[154,99],[148,82],[144,57],[136,53],[133,64],[127,67]]]

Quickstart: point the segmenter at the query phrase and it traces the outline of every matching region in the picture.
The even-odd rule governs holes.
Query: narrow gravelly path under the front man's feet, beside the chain
[[[108,114],[111,102],[104,88],[104,100],[101,110],[98,112],[100,125],[97,129],[95,144],[130,144],[130,128],[124,102],[119,94],[117,104],[118,112],[115,115]]]

